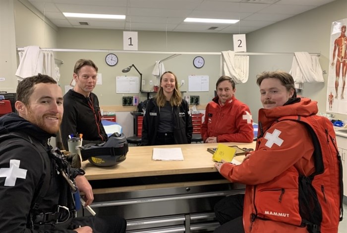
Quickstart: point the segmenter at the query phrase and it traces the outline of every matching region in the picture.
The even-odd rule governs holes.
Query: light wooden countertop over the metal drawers
[[[255,149],[252,143],[223,143],[226,145],[237,145],[241,148]],[[197,143],[165,146],[137,146],[129,147],[125,161],[113,167],[96,167],[88,161],[82,162],[82,169],[86,172],[89,180],[113,179],[126,177],[141,177],[152,175],[176,175],[192,173],[216,172],[212,154],[207,151],[209,147],[217,147],[218,143]],[[154,161],[152,160],[153,148],[175,148],[182,149],[183,161]],[[235,157],[242,161],[243,156]]]

